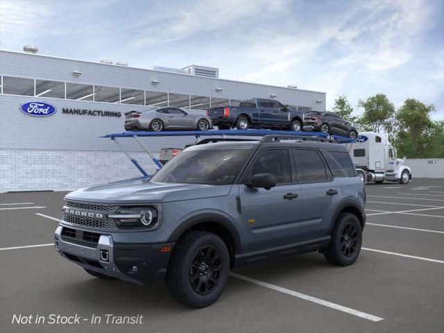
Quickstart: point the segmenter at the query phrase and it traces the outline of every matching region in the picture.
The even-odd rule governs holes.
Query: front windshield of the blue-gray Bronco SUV
[[[185,150],[165,164],[150,182],[231,185],[250,154],[249,149]]]

